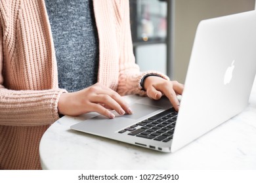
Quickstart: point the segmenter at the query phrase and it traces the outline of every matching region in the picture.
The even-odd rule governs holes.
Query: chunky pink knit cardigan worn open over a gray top
[[[135,64],[129,1],[95,0],[93,5],[100,47],[98,82],[121,95],[144,95],[140,80],[148,72],[140,73]],[[58,98],[66,92],[58,88],[56,68],[44,1],[1,0],[0,169],[41,168],[39,142],[58,120]]]

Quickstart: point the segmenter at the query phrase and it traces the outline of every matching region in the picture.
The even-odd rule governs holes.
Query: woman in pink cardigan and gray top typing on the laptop
[[[178,110],[182,90],[140,73],[128,1],[0,2],[0,169],[41,169],[39,141],[62,114],[131,114],[127,94],[166,95]]]

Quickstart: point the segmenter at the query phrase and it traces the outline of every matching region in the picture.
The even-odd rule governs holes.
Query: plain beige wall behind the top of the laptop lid
[[[200,20],[253,10],[255,0],[177,0],[174,4],[172,79],[184,83],[196,27]]]

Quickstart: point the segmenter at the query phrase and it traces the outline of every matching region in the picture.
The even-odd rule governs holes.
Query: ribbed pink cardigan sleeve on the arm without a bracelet
[[[1,14],[0,14],[1,16]],[[2,17],[1,17],[2,18]],[[0,125],[49,125],[58,120],[58,98],[66,90],[9,90],[5,87],[5,42],[0,18]],[[26,78],[24,78],[26,80]]]

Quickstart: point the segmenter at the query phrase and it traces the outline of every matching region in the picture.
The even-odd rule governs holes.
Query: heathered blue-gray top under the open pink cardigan
[[[93,0],[45,0],[58,64],[59,88],[75,92],[96,83],[98,33]]]

